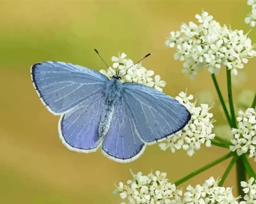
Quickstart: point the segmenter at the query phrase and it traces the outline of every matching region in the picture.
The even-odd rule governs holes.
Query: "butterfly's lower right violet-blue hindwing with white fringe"
[[[145,150],[135,120],[123,98],[116,99],[108,133],[102,142],[102,153],[117,162],[130,162],[140,157]]]

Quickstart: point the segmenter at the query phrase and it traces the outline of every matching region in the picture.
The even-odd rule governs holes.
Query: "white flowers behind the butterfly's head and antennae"
[[[165,87],[166,82],[162,81],[159,75],[155,75],[155,81],[153,81],[152,76],[154,75],[154,71],[145,69],[145,67],[142,66],[142,63],[134,65],[134,62],[131,59],[126,59],[126,54],[124,53],[118,53],[118,57],[112,57],[111,60],[113,62],[112,67],[109,67],[107,71],[99,71],[109,79],[119,71],[122,83],[136,82],[149,87],[154,87],[158,91],[163,91],[162,87]]]

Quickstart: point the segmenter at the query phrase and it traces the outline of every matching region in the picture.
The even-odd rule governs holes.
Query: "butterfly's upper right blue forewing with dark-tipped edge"
[[[191,119],[185,106],[148,86],[124,83],[122,96],[146,144],[166,139],[183,129]]]

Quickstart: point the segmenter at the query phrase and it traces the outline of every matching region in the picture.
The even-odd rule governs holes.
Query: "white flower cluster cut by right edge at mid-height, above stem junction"
[[[232,145],[229,146],[231,151],[236,151],[240,156],[249,151],[249,158],[253,157],[256,161],[256,113],[253,108],[248,108],[245,112],[239,110],[238,128],[233,128],[231,133],[234,139],[231,139]]]

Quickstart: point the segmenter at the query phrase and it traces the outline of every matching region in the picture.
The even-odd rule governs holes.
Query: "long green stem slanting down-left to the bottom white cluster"
[[[233,155],[233,152],[229,152],[228,154],[224,155],[223,157],[220,157],[220,158],[218,158],[218,159],[212,161],[211,163],[209,163],[209,164],[203,166],[202,168],[199,168],[199,169],[195,170],[194,172],[192,172],[192,173],[186,175],[185,177],[181,178],[180,180],[174,182],[175,185],[176,185],[176,186],[180,185],[181,183],[187,181],[188,179],[194,177],[195,175],[197,175],[197,174],[199,174],[199,173],[201,173],[201,172],[203,172],[203,171],[205,171],[205,170],[211,168],[212,166],[215,166],[216,164],[218,164],[218,163],[220,163],[220,162],[226,160],[227,158],[229,158],[229,157],[232,156],[232,155]]]

